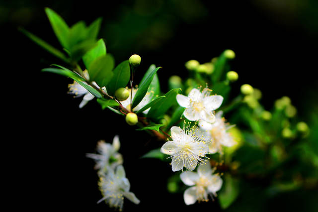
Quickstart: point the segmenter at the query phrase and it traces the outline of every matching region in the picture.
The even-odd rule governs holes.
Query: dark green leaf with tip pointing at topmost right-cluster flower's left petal
[[[176,104],[176,95],[181,91],[180,88],[172,89],[161,99],[156,105],[149,110],[147,117],[158,119],[160,118],[172,105]]]

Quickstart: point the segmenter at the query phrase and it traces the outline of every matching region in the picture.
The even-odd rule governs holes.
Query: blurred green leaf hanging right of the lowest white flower
[[[226,174],[224,185],[218,196],[222,209],[226,209],[231,206],[231,204],[239,196],[239,181],[232,178],[230,174]]]

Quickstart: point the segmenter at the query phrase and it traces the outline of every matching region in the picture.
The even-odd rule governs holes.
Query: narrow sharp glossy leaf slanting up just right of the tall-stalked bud
[[[137,106],[145,97],[145,95],[147,94],[148,88],[151,84],[151,82],[153,81],[156,72],[159,70],[158,67],[156,69],[151,70],[150,72],[147,72],[144,76],[144,78],[142,79],[140,85],[139,85],[139,89],[136,92],[136,95],[134,97],[133,103],[132,103],[132,108],[134,108],[135,106]]]

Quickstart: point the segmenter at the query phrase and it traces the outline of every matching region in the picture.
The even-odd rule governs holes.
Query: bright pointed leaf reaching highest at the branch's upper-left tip
[[[46,15],[48,16],[50,23],[52,25],[53,31],[60,41],[61,45],[65,48],[69,48],[69,26],[63,20],[63,18],[58,15],[52,9],[46,7],[45,8]]]

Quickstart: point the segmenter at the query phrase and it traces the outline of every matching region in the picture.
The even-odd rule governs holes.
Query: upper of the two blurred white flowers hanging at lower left
[[[123,164],[123,156],[117,151],[120,148],[118,135],[113,139],[113,144],[99,141],[97,143],[97,152],[99,154],[87,153],[86,157],[92,158],[96,162],[95,169],[99,174],[106,173],[109,169],[115,169],[116,166]]]

